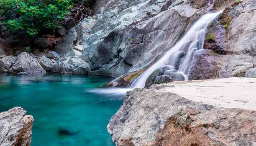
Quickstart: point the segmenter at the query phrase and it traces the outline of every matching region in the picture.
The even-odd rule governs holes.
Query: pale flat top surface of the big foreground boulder
[[[221,108],[256,110],[256,78],[225,78],[153,85],[159,92]]]

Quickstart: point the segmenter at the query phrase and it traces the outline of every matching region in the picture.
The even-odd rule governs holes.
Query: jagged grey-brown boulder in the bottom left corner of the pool
[[[21,107],[0,113],[0,145],[30,146],[33,116]]]

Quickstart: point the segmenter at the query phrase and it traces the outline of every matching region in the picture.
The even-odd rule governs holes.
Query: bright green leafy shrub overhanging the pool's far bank
[[[26,30],[34,37],[45,28],[60,27],[69,15],[72,0],[0,0],[0,15],[10,30]]]

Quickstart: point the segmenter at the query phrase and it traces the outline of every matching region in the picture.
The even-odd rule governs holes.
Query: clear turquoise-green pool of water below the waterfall
[[[88,91],[110,80],[80,75],[0,74],[0,112],[22,106],[34,117],[31,146],[114,146],[106,126],[123,103],[123,95]],[[60,133],[60,129],[71,134]]]

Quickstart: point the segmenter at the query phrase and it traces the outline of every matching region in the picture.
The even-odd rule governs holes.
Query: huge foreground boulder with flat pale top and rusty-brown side
[[[107,128],[117,146],[255,146],[255,95],[255,78],[134,89]]]

